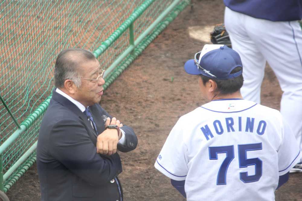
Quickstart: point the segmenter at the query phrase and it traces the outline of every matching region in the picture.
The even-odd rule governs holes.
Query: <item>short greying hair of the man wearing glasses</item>
[[[54,71],[55,86],[64,87],[64,82],[71,79],[76,87],[80,87],[82,82],[78,72],[79,63],[82,61],[94,60],[92,52],[80,48],[69,48],[59,53]]]

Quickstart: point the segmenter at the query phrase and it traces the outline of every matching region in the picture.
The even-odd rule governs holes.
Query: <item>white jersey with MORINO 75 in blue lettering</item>
[[[185,180],[187,200],[275,200],[279,176],[300,160],[279,111],[243,99],[214,100],[182,116],[155,167]]]

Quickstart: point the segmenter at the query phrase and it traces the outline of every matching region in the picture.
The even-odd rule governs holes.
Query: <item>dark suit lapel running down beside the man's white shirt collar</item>
[[[93,136],[95,137],[95,139],[92,139],[93,142],[96,142],[96,137],[98,137],[98,135],[95,132],[95,130],[93,129],[93,127],[91,126],[91,123],[88,120],[87,116],[75,104],[73,104],[71,101],[66,99],[61,94],[57,93],[56,88],[53,90],[52,98],[54,100],[56,100],[57,102],[61,103],[62,105],[64,105],[69,110],[71,110],[77,116],[79,116],[84,121],[84,123],[85,123],[86,127],[89,129],[90,133],[93,133]]]

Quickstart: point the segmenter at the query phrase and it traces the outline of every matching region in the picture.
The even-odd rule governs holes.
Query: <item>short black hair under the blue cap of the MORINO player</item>
[[[242,67],[238,66],[234,68],[234,70],[231,72],[237,73],[242,70]],[[243,75],[239,75],[238,77],[235,78],[230,78],[227,80],[220,80],[220,79],[213,79],[204,75],[200,75],[201,80],[203,84],[205,85],[209,80],[213,80],[217,84],[217,92],[221,95],[226,95],[226,94],[232,94],[235,93],[236,91],[239,91],[240,88],[243,85]]]

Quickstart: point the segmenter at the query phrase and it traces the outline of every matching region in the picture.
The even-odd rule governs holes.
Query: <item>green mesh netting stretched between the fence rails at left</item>
[[[4,0],[0,2],[0,95],[18,124],[51,95],[58,53],[76,47],[94,51],[141,5],[148,7],[133,23],[134,40],[173,0]],[[121,33],[98,60],[107,69],[129,46]],[[37,118],[3,152],[3,172],[37,141]],[[0,102],[0,145],[18,127]]]

